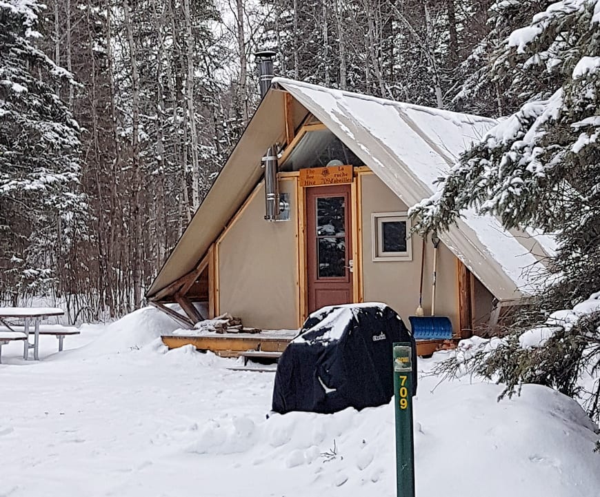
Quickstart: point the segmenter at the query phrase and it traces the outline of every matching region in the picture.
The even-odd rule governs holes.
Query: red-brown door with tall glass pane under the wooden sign
[[[350,185],[306,188],[308,312],[352,303]]]

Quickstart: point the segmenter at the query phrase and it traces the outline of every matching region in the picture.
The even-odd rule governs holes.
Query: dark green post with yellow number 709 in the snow
[[[412,347],[410,343],[394,343],[397,497],[414,497],[412,367]]]

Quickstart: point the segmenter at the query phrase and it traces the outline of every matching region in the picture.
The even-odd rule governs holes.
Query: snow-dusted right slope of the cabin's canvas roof
[[[431,196],[470,143],[497,124],[471,116],[276,78],[399,198],[411,206]],[[532,290],[528,274],[548,255],[548,237],[508,232],[492,216],[466,212],[439,235],[443,243],[500,300]]]

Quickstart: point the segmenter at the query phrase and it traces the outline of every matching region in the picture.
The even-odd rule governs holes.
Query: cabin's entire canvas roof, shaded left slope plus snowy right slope
[[[406,205],[428,198],[434,181],[459,154],[497,121],[481,116],[410,105],[332,90],[284,78],[261,101],[239,143],[223,166],[186,232],[161,268],[147,296],[152,298],[187,274],[206,254],[234,212],[262,177],[261,156],[284,140],[283,92],[294,97],[294,124],[314,114]],[[528,270],[552,252],[552,239],[507,232],[491,216],[467,212],[441,240],[501,301],[531,292]]]

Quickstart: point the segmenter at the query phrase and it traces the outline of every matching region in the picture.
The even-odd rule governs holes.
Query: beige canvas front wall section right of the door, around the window
[[[408,326],[408,316],[414,315],[419,303],[421,273],[421,238],[410,240],[412,261],[372,260],[372,212],[404,212],[406,205],[374,174],[361,176],[363,298],[364,301],[387,303]],[[431,281],[433,246],[426,246],[423,309],[431,312]],[[435,314],[448,316],[454,332],[459,327],[457,259],[442,244],[439,245]]]

